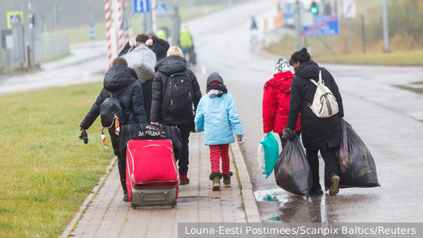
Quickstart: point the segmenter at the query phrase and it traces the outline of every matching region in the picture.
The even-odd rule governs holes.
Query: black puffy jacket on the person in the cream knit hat
[[[163,96],[164,92],[166,92],[166,85],[169,77],[174,73],[182,73],[187,70],[187,61],[180,56],[168,56],[157,62],[154,69],[156,70],[156,75],[154,75],[153,80],[151,121],[164,125],[190,125],[192,122],[191,113],[180,116],[167,114],[161,110]],[[192,91],[194,92],[192,103],[196,111],[197,105],[201,99],[200,85],[197,82],[197,77],[195,77],[190,69],[188,69],[188,75],[190,75],[192,82]]]

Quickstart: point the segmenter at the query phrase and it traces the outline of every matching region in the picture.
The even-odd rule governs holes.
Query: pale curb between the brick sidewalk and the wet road
[[[235,142],[236,143],[236,142]],[[241,194],[243,196],[243,203],[245,207],[245,215],[247,215],[248,223],[262,223],[259,208],[257,207],[254,192],[252,191],[252,184],[250,175],[248,175],[247,165],[244,162],[244,156],[241,153],[240,145],[233,146],[231,144],[233,159],[238,168],[238,175],[241,182]]]

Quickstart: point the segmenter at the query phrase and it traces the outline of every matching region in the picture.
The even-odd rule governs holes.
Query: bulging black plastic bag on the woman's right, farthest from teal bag
[[[366,144],[345,120],[341,120],[341,142],[336,149],[339,187],[380,187],[376,164]],[[329,190],[331,181],[325,169],[324,187]]]

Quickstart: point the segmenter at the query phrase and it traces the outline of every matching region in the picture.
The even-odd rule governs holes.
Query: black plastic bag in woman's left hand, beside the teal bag
[[[276,184],[281,189],[300,196],[309,196],[313,182],[312,170],[297,134],[283,146],[274,171]]]

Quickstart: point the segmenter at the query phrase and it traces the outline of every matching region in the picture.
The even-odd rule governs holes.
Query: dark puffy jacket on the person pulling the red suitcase
[[[97,97],[97,101],[92,104],[90,112],[82,120],[80,127],[85,130],[90,128],[94,120],[100,115],[100,105],[109,97],[109,92],[117,93],[124,87],[126,89],[121,92],[118,99],[123,111],[130,113],[128,124],[147,123],[142,87],[139,82],[135,81],[137,78],[137,73],[132,68],[125,65],[111,66],[104,77],[104,88],[102,92]]]

